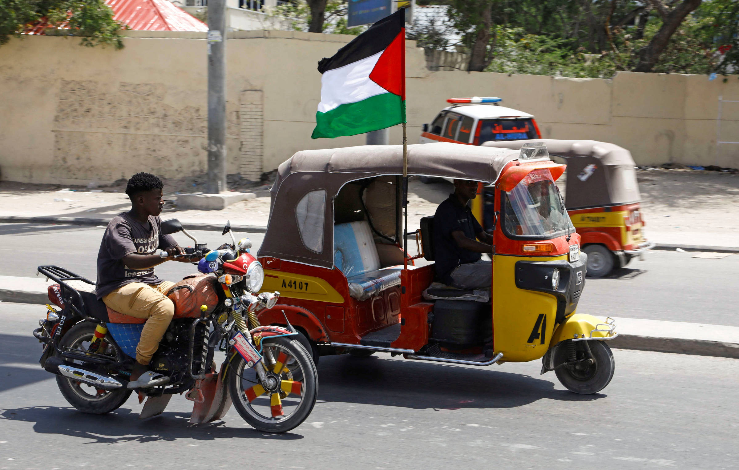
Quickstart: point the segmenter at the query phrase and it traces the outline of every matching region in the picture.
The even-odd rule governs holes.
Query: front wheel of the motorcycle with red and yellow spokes
[[[310,353],[295,339],[265,338],[262,341],[262,353],[266,355],[267,351],[276,360],[279,360],[280,353],[287,356],[285,368],[279,374],[274,370],[268,372],[268,378],[274,381],[260,384],[256,371],[247,367],[244,358],[236,354],[229,367],[228,391],[236,411],[250,426],[264,432],[287,432],[300,426],[313,411],[319,392],[318,372]],[[257,367],[262,367],[261,364]],[[285,381],[299,382],[299,394],[294,392],[294,388],[286,394],[282,388]],[[285,386],[289,388],[290,384]],[[287,408],[289,413],[274,415],[274,395],[279,397],[279,412],[285,413]],[[295,398],[299,400],[295,401]]]

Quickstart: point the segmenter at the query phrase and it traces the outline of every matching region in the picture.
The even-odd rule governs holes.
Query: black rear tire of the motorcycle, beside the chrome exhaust
[[[95,333],[95,323],[92,321],[81,321],[69,329],[67,334],[59,341],[59,347],[69,347],[75,350],[86,351],[84,342],[91,341]],[[123,351],[120,350],[109,335],[106,340],[110,345],[110,353],[115,358],[123,358]],[[78,362],[78,361],[75,361]],[[59,386],[61,395],[69,402],[70,405],[84,413],[92,413],[95,415],[103,415],[118,409],[131,396],[132,390],[120,388],[115,390],[98,391],[92,385],[74,381],[71,378],[56,376],[56,384]]]

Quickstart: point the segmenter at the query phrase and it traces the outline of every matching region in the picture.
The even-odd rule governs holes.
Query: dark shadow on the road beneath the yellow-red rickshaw
[[[554,375],[551,378],[556,380]],[[491,368],[389,361],[376,356],[324,356],[319,383],[321,401],[412,409],[514,408],[542,398],[593,401],[607,396],[555,390],[551,381]]]

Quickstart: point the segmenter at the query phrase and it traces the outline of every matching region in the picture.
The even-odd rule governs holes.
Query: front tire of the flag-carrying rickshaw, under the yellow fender
[[[572,343],[571,339],[562,341],[557,345],[554,352],[554,364],[562,364],[567,358],[568,343]],[[577,357],[585,358],[585,341],[577,341]],[[605,341],[588,341],[590,353],[593,354],[593,364],[587,361],[573,365],[562,365],[557,367],[554,372],[559,382],[567,387],[568,390],[583,395],[600,392],[610,383],[613,378],[613,371],[616,369],[616,362],[613,360],[613,353]]]

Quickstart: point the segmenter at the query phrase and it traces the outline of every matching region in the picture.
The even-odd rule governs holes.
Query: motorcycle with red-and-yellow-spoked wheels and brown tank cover
[[[163,234],[182,231],[194,242],[175,258],[199,259],[200,275],[186,276],[168,291],[174,318],[151,358],[150,367],[168,384],[135,389],[140,418],[161,414],[172,395],[194,401],[191,423],[209,423],[236,406],[239,415],[264,432],[287,432],[310,415],[318,395],[318,375],[299,334],[259,323],[256,313],[275,306],[279,292],[259,293],[264,270],[251,255],[251,240],[236,242],[227,223],[222,235],[232,244],[208,250],[177,219],[162,222]],[[166,257],[167,253],[161,256]],[[111,310],[96,299],[95,282],[53,265],[38,273],[49,287],[47,317],[33,335],[44,343],[40,364],[57,375],[64,398],[81,412],[103,414],[123,405],[134,389],[127,380],[145,319]],[[219,369],[216,350],[225,353]]]

